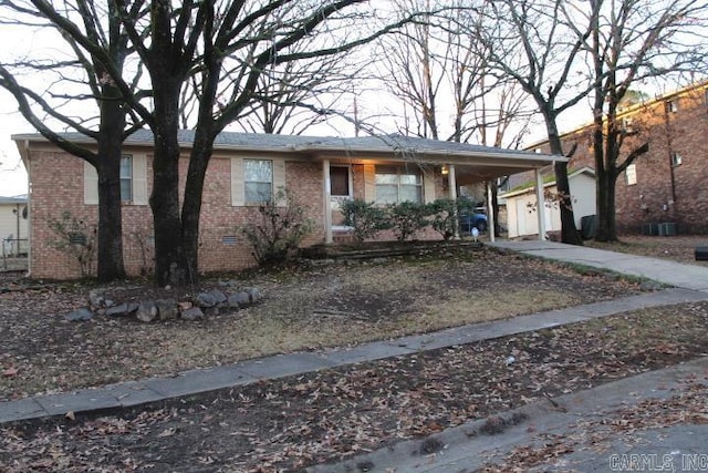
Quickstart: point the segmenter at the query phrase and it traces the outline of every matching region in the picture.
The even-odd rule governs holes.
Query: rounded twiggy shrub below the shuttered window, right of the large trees
[[[285,206],[279,205],[282,202]],[[258,207],[249,224],[238,228],[260,266],[281,265],[296,254],[302,240],[314,230],[314,220],[305,217],[305,210],[280,188],[271,202]]]

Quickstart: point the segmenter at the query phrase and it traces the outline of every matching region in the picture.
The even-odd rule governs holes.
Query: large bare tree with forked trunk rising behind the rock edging
[[[111,58],[71,19],[43,0],[32,2],[64,34],[105,61],[123,97],[152,128],[155,276],[157,284],[175,286],[198,278],[201,194],[215,138],[252,103],[266,71],[273,65],[340,54],[408,21],[372,28],[378,25],[376,10],[365,0],[119,3],[117,14],[152,83],[152,104],[146,106]],[[136,6],[149,14],[136,16]],[[308,48],[294,49],[301,43]],[[180,206],[180,97],[189,80],[199,103]]]

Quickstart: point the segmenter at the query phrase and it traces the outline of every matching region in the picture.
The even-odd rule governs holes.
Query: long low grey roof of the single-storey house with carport
[[[62,134],[65,140],[75,143],[94,143],[94,140],[80,133]],[[180,147],[192,146],[195,132],[181,130],[178,134]],[[13,135],[18,142],[46,142],[40,134]],[[125,145],[153,146],[153,133],[138,130],[128,136]],[[429,164],[455,164],[460,169],[458,182],[481,181],[502,175],[514,174],[530,168],[549,165],[555,161],[568,161],[560,155],[532,153],[521,150],[506,150],[469,143],[456,143],[428,140],[400,134],[335,137],[301,136],[258,133],[222,132],[214,143],[215,151],[273,152],[306,156],[313,160],[347,157],[354,160],[388,158]],[[471,166],[476,166],[476,171]]]

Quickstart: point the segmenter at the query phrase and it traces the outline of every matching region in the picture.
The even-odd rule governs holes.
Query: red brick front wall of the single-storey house
[[[152,156],[147,156],[147,194],[152,192]],[[83,161],[65,153],[31,151],[30,177],[32,186],[30,223],[32,228],[31,270],[34,278],[71,279],[81,276],[77,261],[54,249],[50,240],[55,238],[48,226],[49,219],[58,219],[63,212],[97,224],[97,205],[84,204]],[[354,195],[364,195],[364,167],[353,165]],[[187,160],[180,162],[180,189]],[[63,176],[60,181],[56,176]],[[256,207],[231,206],[231,162],[223,156],[211,158],[205,179],[200,216],[199,268],[204,273],[229,271],[254,265],[251,249],[238,227],[258,218]],[[322,243],[323,195],[322,165],[320,163],[289,161],[285,164],[285,182],[291,195],[308,208],[315,230],[304,246]],[[442,196],[442,181],[436,181],[436,195]],[[181,192],[180,192],[181,195]],[[150,275],[154,269],[153,216],[148,205],[123,206],[124,263],[128,275]],[[227,237],[225,239],[225,237]],[[228,237],[235,237],[236,243]],[[419,235],[419,239],[438,239],[435,232]],[[393,239],[382,234],[378,239]],[[92,267],[95,274],[95,264]]]

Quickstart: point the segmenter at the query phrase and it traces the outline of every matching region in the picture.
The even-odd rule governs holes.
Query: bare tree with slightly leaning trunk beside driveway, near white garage
[[[565,20],[564,0],[498,0],[478,9],[486,18],[478,28],[478,41],[489,51],[490,66],[512,78],[533,99],[543,116],[551,153],[565,155],[560,138],[559,115],[586,97],[592,84],[577,81],[583,47],[590,25],[571,27]],[[575,228],[568,181],[568,164],[554,166],[561,200],[564,243],[582,245]]]

